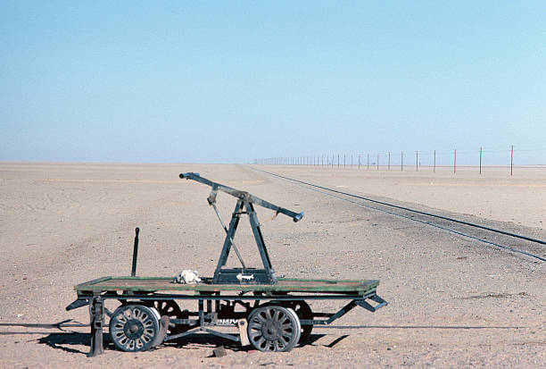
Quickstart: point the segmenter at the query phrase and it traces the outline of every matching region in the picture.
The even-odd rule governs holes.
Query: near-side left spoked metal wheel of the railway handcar
[[[153,307],[125,305],[116,309],[110,319],[110,335],[123,351],[145,351],[159,340],[160,314]]]

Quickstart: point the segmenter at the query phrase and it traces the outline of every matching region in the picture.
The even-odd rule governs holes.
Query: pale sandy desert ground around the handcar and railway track
[[[372,172],[261,166],[328,187],[393,198],[439,214],[479,219],[546,239],[546,174],[525,169],[484,175],[458,168]],[[503,172],[504,171],[504,172]],[[294,223],[258,210],[277,273],[299,278],[379,279],[389,306],[353,310],[335,328],[316,328],[289,353],[262,354],[211,336],[129,354],[108,344],[87,358],[87,329],[17,323],[88,322],[66,312],[73,286],[128,275],[141,228],[139,275],[183,269],[211,275],[223,231],[206,203],[209,189],[179,180],[203,177],[304,211]],[[225,218],[232,197],[220,196]],[[479,217],[479,218],[478,218]],[[248,231],[237,238],[252,253]],[[0,163],[0,362],[2,367],[543,367],[546,264],[373,209],[302,189],[252,170],[203,164]],[[256,262],[256,258],[247,257]],[[317,310],[325,303],[313,304]],[[115,307],[111,306],[111,307]],[[359,326],[359,328],[355,328]],[[227,356],[210,357],[224,345]]]

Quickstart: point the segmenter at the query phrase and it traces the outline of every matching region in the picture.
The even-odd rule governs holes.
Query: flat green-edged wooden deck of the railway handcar
[[[75,287],[78,293],[90,291],[187,291],[194,293],[239,291],[239,292],[313,292],[364,295],[374,292],[379,284],[375,280],[307,280],[279,278],[277,284],[212,284],[204,278],[197,284],[173,283],[164,277],[103,277],[87,281]]]

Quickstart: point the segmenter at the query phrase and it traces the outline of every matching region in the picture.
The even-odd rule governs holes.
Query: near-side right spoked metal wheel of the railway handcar
[[[283,306],[262,306],[248,317],[248,338],[260,351],[290,351],[300,340],[298,315]]]

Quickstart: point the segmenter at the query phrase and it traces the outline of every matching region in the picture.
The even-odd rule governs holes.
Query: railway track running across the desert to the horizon
[[[510,231],[498,230],[484,224],[467,222],[440,214],[432,214],[371,197],[355,195],[338,189],[330,189],[316,183],[289,178],[277,173],[262,171],[257,168],[252,169],[276,177],[279,180],[294,183],[304,189],[322,193],[329,197],[335,197],[355,205],[365,206],[382,213],[392,214],[393,216],[408,219],[411,222],[423,223],[467,239],[477,240],[492,247],[498,247],[512,253],[529,256],[535,260],[546,262],[546,240],[535,239]]]

